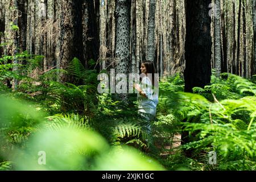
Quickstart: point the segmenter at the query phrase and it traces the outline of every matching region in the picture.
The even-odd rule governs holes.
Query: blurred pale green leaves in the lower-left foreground
[[[2,138],[9,133],[0,135],[0,163],[1,170],[101,170],[101,169],[143,169],[164,170],[155,160],[138,151],[127,147],[111,147],[96,131],[88,129],[88,121],[79,115],[55,115],[47,117],[47,121],[38,118],[38,111],[22,108],[30,107],[22,102],[13,101],[10,98],[0,98],[0,106],[9,102],[6,107],[7,114],[14,112],[16,115],[28,113],[23,121],[14,119],[16,123],[27,122],[30,118],[42,121],[33,135],[29,135],[23,146],[13,145],[6,150]],[[1,129],[5,125],[0,119]],[[6,121],[9,123],[9,121]],[[2,125],[3,124],[3,125]],[[46,154],[46,165],[40,165],[40,152]],[[42,157],[42,156],[41,156]],[[11,162],[7,162],[11,161]]]

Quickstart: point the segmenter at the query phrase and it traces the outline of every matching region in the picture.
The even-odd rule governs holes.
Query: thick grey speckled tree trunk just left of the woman
[[[130,65],[130,0],[115,0],[115,59],[117,61],[116,73],[129,73]],[[127,90],[127,88],[121,89]],[[127,101],[128,95],[119,94],[119,98]]]

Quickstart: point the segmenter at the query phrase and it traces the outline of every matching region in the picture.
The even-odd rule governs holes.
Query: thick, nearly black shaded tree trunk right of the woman
[[[210,0],[187,0],[186,7],[186,40],[185,40],[185,92],[192,88],[204,88],[210,84],[211,46],[210,16],[208,6]]]

